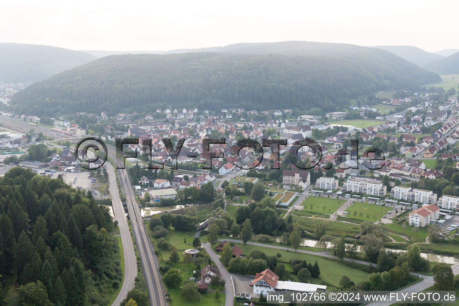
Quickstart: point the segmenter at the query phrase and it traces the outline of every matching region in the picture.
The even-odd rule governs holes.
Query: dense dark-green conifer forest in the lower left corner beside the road
[[[107,305],[120,286],[114,223],[90,193],[30,169],[0,178],[0,304]],[[11,287],[11,285],[13,285]]]

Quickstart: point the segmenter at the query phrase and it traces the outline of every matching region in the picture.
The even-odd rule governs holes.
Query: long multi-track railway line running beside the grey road
[[[5,128],[10,128],[16,131],[29,131],[34,128],[35,132],[43,133],[46,136],[54,137],[56,139],[74,141],[75,137],[66,134],[52,133],[49,128],[40,126],[28,125],[27,122],[17,122],[10,118],[1,118],[0,122],[4,124]],[[108,156],[116,163],[117,167],[123,167],[123,161],[118,157],[116,148],[107,146]],[[135,200],[135,194],[132,184],[129,181],[129,175],[126,169],[118,169],[118,177],[120,184],[123,186],[124,194],[126,195],[126,202],[128,212],[131,219],[132,230],[137,244],[137,249],[140,255],[142,264],[142,271],[144,273],[145,282],[147,285],[148,293],[150,296],[151,306],[167,306],[166,296],[164,294],[164,287],[162,285],[161,274],[159,273],[159,263],[157,256],[154,253],[153,246],[151,245],[148,232],[143,223],[140,208]]]

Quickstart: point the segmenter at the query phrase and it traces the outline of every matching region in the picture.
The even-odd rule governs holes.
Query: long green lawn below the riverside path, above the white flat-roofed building
[[[369,273],[366,273],[364,271],[352,267],[347,267],[339,262],[330,261],[320,256],[287,252],[285,250],[271,249],[257,245],[238,245],[241,248],[241,250],[244,251],[245,254],[248,254],[253,249],[257,249],[263,251],[266,255],[269,256],[280,253],[282,255],[282,257],[280,257],[280,260],[285,262],[288,262],[292,258],[306,260],[307,262],[311,262],[312,264],[314,264],[314,262],[317,261],[320,267],[319,278],[332,286],[339,286],[340,279],[343,275],[347,275],[356,284],[367,279],[369,275]]]

